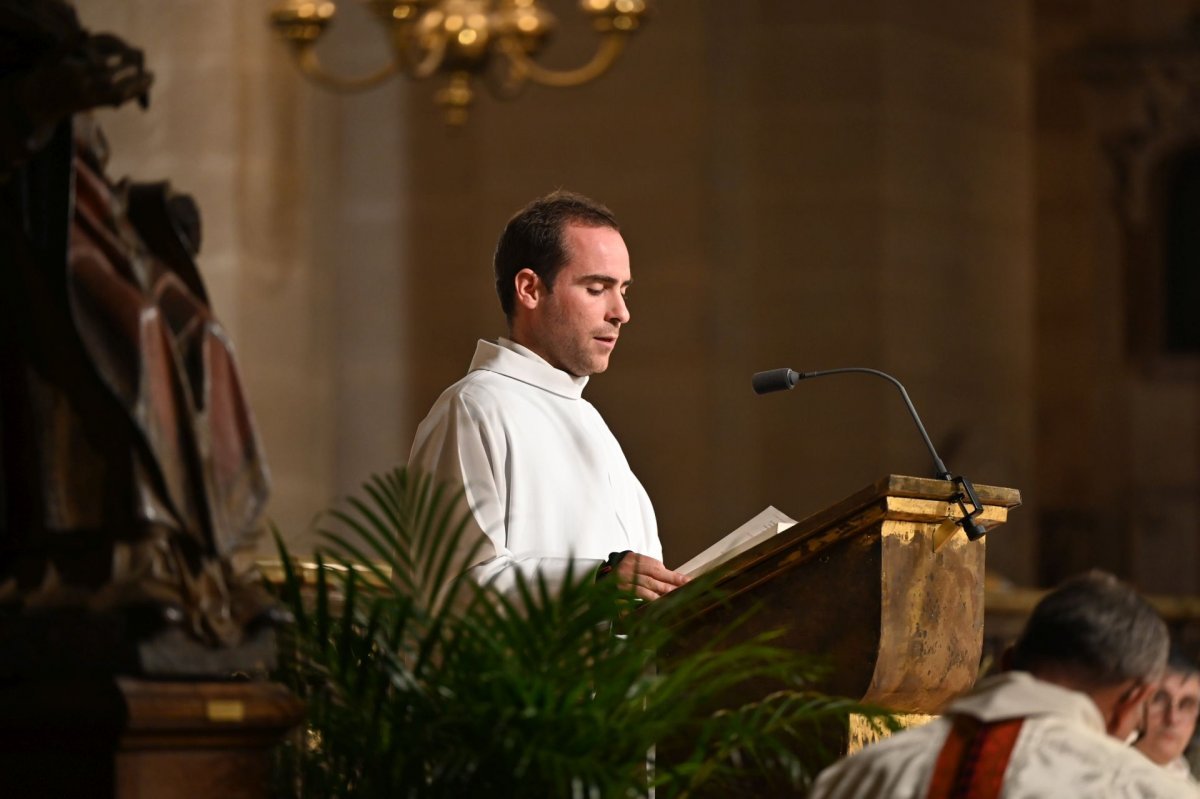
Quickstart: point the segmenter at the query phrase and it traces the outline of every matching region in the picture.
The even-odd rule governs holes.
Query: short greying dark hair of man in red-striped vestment
[[[1013,668],[1068,668],[1096,686],[1158,679],[1170,637],[1153,607],[1112,575],[1088,572],[1042,597],[1013,648]]]

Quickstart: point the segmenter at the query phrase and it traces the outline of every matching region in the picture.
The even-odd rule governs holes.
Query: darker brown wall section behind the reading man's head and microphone
[[[503,221],[568,186],[612,205],[632,251],[632,323],[588,395],[655,499],[668,561],[767,503],[803,515],[929,474],[886,383],[754,397],[749,376],[782,365],[894,372],[953,469],[1032,505],[1025,7],[881,6],[662,2],[605,80],[487,103],[452,137],[414,97],[414,404],[502,330]],[[994,541],[1018,578],[1031,516]]]

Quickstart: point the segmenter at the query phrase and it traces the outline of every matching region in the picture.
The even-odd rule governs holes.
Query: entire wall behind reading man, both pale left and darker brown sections
[[[346,4],[350,5],[350,4]],[[169,6],[169,8],[168,8]],[[756,398],[754,371],[908,385],[949,467],[1026,492],[991,561],[1033,573],[1031,31],[1025,4],[661,0],[602,80],[482,101],[340,98],[289,71],[268,4],[86,0],[163,78],[106,125],[114,172],[197,194],[294,540],[503,332],[503,222],[564,186],[608,203],[634,322],[588,396],[677,561],[767,503],[805,515],[929,462],[899,397],[848,377]],[[589,46],[565,23],[563,49]],[[353,10],[353,8],[352,8]],[[348,14],[332,54],[373,54]]]

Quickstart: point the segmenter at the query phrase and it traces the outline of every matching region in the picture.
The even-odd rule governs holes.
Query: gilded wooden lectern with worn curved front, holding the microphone
[[[976,491],[985,530],[1021,503],[1014,488]],[[724,601],[697,606],[680,645],[757,607],[734,637],[782,630],[776,645],[829,660],[820,690],[937,713],[974,683],[983,647],[986,539],[971,542],[956,529],[934,548],[935,531],[959,513],[954,492],[944,480],[890,475],[763,541],[720,567]],[[730,699],[775,687],[749,683]]]

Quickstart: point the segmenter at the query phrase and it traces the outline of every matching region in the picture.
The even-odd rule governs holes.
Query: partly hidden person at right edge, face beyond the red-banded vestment
[[[1183,750],[1192,743],[1200,711],[1200,666],[1178,650],[1171,651],[1166,673],[1146,703],[1141,735],[1134,746],[1168,773],[1195,782]]]

